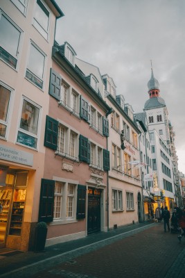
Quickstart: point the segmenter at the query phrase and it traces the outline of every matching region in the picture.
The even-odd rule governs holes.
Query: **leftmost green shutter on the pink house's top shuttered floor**
[[[50,72],[50,83],[49,83],[49,95],[55,97],[55,99],[61,99],[61,81],[62,78],[58,72],[51,69]]]

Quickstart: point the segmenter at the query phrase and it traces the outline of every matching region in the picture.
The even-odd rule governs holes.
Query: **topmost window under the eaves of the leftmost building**
[[[40,0],[37,0],[33,25],[48,40],[49,37],[49,11]]]

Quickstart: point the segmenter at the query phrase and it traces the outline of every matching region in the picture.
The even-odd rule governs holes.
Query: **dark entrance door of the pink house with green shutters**
[[[87,234],[100,231],[100,190],[88,189]]]

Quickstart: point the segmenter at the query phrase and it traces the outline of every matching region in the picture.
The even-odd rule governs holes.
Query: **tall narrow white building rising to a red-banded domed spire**
[[[144,111],[152,147],[155,200],[159,206],[168,206],[168,209],[172,209],[175,202],[175,183],[168,110],[164,99],[159,95],[159,82],[155,79],[152,69],[151,71],[151,78],[148,81],[149,99],[146,101]]]

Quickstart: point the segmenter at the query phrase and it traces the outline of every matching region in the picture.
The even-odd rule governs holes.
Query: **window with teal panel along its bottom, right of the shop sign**
[[[36,149],[38,122],[39,107],[23,99],[17,142]]]

